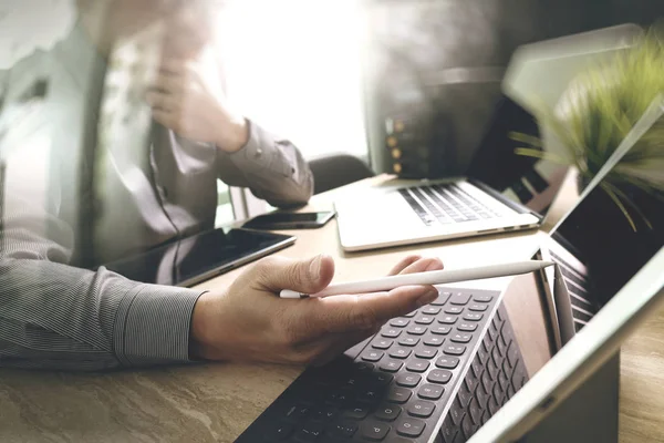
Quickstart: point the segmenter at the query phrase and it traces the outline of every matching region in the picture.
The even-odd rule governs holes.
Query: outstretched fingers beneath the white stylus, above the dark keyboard
[[[309,312],[299,312],[308,318],[311,329],[322,332],[344,332],[376,328],[387,320],[408,312],[438,298],[433,286],[404,286],[390,292],[356,296],[334,296],[311,299],[302,305]],[[315,336],[315,332],[312,331]]]

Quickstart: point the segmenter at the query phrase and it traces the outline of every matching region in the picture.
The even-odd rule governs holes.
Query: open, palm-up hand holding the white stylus
[[[438,270],[437,258],[409,256],[390,275]],[[204,293],[191,319],[194,358],[224,361],[322,364],[375,334],[382,324],[438,297],[433,286],[301,300],[281,299],[281,289],[315,293],[334,276],[328,256],[309,260],[268,257],[222,292]]]

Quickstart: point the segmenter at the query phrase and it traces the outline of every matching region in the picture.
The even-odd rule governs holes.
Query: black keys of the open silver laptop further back
[[[454,183],[401,188],[398,193],[427,226],[500,217]]]

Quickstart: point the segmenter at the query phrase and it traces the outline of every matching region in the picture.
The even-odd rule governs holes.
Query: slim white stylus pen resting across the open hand
[[[479,268],[434,270],[428,272],[406,274],[376,278],[374,280],[351,281],[346,284],[330,285],[317,293],[301,293],[290,289],[283,289],[279,297],[281,298],[310,298],[310,297],[330,297],[342,293],[367,293],[386,291],[401,286],[411,285],[443,285],[457,281],[480,280],[484,278],[517,276],[553,266],[552,261],[515,261],[501,265],[483,266]]]

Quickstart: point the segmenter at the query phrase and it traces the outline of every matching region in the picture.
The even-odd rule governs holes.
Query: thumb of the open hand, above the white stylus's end
[[[269,257],[256,264],[258,281],[271,292],[291,289],[314,293],[323,290],[334,277],[334,260],[319,255],[307,260]]]

